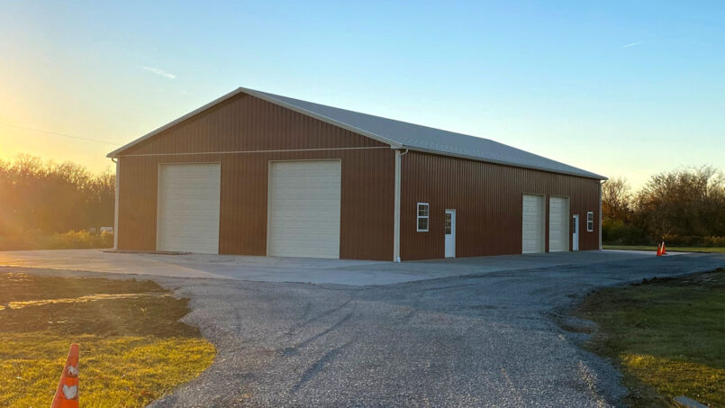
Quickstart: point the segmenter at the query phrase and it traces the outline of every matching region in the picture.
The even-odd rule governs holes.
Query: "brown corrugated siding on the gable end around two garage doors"
[[[268,161],[298,159],[341,159],[340,258],[392,259],[394,151],[249,95],[122,152],[118,248],[156,249],[159,164],[219,162],[220,253],[266,255]]]

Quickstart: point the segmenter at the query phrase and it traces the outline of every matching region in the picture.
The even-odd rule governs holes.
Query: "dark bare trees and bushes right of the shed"
[[[604,243],[723,246],[725,177],[710,166],[678,168],[649,177],[636,192],[615,177],[602,186],[602,213]]]

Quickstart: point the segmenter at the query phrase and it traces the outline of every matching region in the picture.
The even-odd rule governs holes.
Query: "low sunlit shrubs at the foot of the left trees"
[[[0,237],[0,250],[113,248],[113,232],[66,231],[50,235],[28,232]]]

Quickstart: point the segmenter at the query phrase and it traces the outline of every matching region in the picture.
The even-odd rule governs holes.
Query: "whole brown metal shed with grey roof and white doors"
[[[604,177],[246,88],[109,157],[116,249],[411,260],[600,248]]]

